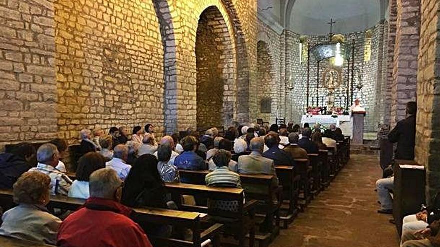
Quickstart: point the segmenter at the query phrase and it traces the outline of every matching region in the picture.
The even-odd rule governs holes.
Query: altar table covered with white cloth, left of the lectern
[[[351,115],[302,115],[301,126],[304,126],[305,123],[308,123],[310,127],[313,127],[313,124],[319,123],[321,125],[330,125],[335,124],[336,127],[342,130],[342,133],[345,136],[352,136],[353,134],[353,122]]]

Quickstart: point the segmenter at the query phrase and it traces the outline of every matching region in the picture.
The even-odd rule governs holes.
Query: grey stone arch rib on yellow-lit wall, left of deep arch
[[[177,45],[174,35],[174,24],[171,7],[167,0],[152,0],[159,19],[160,35],[163,45],[163,79],[164,79],[164,123],[165,132],[173,133],[178,129],[177,102]]]

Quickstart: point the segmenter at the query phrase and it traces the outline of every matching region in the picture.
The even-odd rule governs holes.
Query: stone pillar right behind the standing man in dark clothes
[[[406,103],[416,98],[420,0],[397,0],[391,126],[405,118]]]

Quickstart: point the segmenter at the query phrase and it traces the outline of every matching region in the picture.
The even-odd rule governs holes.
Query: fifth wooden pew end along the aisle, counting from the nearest
[[[302,197],[300,196],[299,199],[299,205],[301,206],[301,211],[304,211],[304,208],[307,206],[307,204],[311,201],[311,171],[312,169],[309,167],[309,161],[308,159],[294,159],[296,162],[296,168],[297,172],[300,176],[299,180],[299,188],[302,192]]]

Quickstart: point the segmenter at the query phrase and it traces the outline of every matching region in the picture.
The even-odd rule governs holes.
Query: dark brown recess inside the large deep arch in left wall
[[[236,54],[233,35],[216,6],[199,17],[195,55],[197,127],[231,125],[236,105]]]

